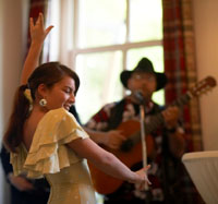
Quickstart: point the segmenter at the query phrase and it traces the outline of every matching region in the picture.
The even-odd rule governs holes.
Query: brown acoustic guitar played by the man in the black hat
[[[215,86],[216,80],[211,76],[208,76],[198,82],[193,88],[186,92],[185,95],[182,95],[180,98],[178,98],[171,106],[181,107],[193,97],[197,97],[203,93],[208,92]],[[155,131],[158,127],[164,124],[164,122],[165,120],[161,112],[152,116],[149,118],[149,121],[146,122],[145,133],[147,147],[146,149],[148,157],[152,157],[153,154],[155,154],[155,144],[150,133]],[[101,147],[116,155],[122,163],[124,163],[129,168],[131,168],[134,164],[137,164],[143,159],[140,125],[140,122],[136,120],[122,122],[118,127],[118,130],[122,131],[122,134],[126,137],[126,140],[123,142],[120,149],[112,149],[107,146]],[[98,193],[110,194],[118,190],[123,183],[123,180],[116,179],[111,176],[106,175],[105,172],[96,168],[92,163],[88,163],[88,166],[94,187]]]

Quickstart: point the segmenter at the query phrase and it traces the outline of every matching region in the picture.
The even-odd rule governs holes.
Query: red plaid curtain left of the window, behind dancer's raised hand
[[[34,19],[34,22],[36,22],[38,14],[41,12],[44,14],[44,20],[45,20],[45,24],[46,21],[48,20],[48,4],[49,4],[49,0],[31,0],[29,1],[29,17]],[[40,62],[43,61],[43,56],[44,56],[44,61],[49,61],[49,36],[47,37],[47,44],[44,45],[44,50],[43,50],[43,55],[40,57]],[[31,35],[29,35],[29,27],[28,27],[28,40],[27,40],[27,50],[31,44]],[[39,62],[39,63],[40,63]]]

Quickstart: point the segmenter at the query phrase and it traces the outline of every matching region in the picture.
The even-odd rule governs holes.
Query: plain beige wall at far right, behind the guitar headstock
[[[194,0],[193,11],[198,79],[218,82],[218,0]],[[218,87],[201,97],[201,118],[204,149],[218,149]]]

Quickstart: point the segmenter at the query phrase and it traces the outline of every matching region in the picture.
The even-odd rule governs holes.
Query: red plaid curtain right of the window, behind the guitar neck
[[[192,0],[162,0],[165,71],[169,77],[166,103],[170,104],[196,83]],[[187,151],[202,151],[197,99],[184,106]]]

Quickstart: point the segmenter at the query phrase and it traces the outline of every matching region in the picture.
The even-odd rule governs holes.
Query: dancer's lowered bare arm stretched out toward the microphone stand
[[[77,155],[88,159],[105,173],[140,185],[148,182],[146,170],[142,168],[134,172],[121,163],[114,155],[98,146],[90,139],[77,139],[68,144]]]

